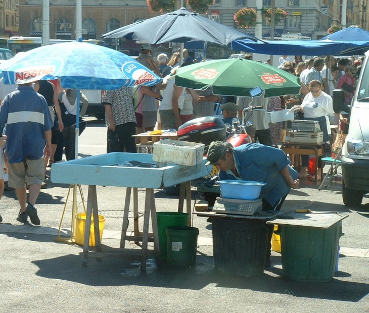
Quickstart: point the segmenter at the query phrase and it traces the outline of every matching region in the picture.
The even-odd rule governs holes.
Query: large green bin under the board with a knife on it
[[[333,279],[342,222],[329,228],[279,225],[283,276],[300,282]]]

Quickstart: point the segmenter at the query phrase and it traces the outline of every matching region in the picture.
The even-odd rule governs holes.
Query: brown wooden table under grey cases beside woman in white
[[[314,175],[314,185],[317,183],[318,174],[318,158],[319,156],[324,156],[324,142],[319,143],[303,143],[303,142],[288,142],[282,143],[281,149],[285,151],[286,154],[295,155],[315,155],[315,175]],[[323,177],[323,169],[320,169],[320,181]]]

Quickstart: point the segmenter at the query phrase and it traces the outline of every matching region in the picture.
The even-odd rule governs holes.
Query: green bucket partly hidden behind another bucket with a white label
[[[161,259],[167,259],[167,234],[166,229],[170,226],[187,226],[189,215],[180,212],[157,212],[158,236]]]

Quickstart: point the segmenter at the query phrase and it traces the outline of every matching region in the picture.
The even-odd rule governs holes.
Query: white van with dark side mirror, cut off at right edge
[[[342,148],[342,199],[347,206],[358,206],[369,192],[369,51],[365,53],[351,106],[344,103],[343,90],[333,91],[336,113],[349,113],[349,127]]]

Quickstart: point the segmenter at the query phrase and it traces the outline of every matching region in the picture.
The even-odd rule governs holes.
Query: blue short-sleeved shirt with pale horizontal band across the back
[[[5,153],[9,163],[42,158],[45,131],[53,126],[48,103],[42,95],[30,86],[18,86],[4,98],[0,124],[6,126]]]

